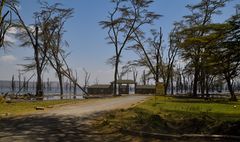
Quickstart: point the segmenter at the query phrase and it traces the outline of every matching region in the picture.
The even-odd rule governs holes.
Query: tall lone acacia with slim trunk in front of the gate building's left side
[[[118,66],[123,49],[135,30],[151,24],[159,15],[148,10],[152,0],[112,0],[115,7],[108,19],[101,21],[103,29],[108,29],[109,43],[115,48],[113,94],[116,95]]]

